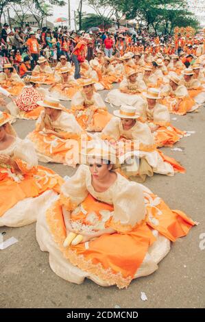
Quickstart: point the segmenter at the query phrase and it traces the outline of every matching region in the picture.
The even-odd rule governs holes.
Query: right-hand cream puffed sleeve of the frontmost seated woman
[[[145,219],[143,189],[136,182],[119,179],[112,201],[114,212],[108,225],[117,232],[128,232]]]

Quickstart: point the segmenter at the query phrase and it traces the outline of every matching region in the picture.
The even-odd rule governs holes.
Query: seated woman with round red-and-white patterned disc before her
[[[39,82],[38,77],[27,75],[24,79],[25,86],[14,101],[6,106],[12,116],[19,119],[38,119],[42,107],[38,106],[37,101],[41,101],[43,94],[36,89]]]

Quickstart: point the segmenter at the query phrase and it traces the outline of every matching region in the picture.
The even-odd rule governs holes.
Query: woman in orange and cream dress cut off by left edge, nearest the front
[[[0,112],[0,226],[29,225],[60,192],[62,178],[38,166],[34,147],[16,137],[11,117]]]

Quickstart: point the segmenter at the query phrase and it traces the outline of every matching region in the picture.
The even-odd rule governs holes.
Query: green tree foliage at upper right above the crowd
[[[88,0],[96,12],[101,8],[110,8],[115,20],[125,15],[127,19],[136,19],[140,26],[152,27],[157,33],[173,32],[174,27],[197,27],[198,23],[193,13],[189,12],[186,0]]]

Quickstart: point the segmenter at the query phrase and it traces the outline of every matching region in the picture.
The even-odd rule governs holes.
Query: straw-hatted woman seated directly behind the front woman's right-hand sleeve
[[[138,121],[139,115],[132,106],[121,106],[100,134],[117,149],[121,169],[128,177],[134,176],[144,182],[146,176],[154,173],[174,175],[184,173],[184,168],[173,158],[156,149],[154,137],[146,123]]]

